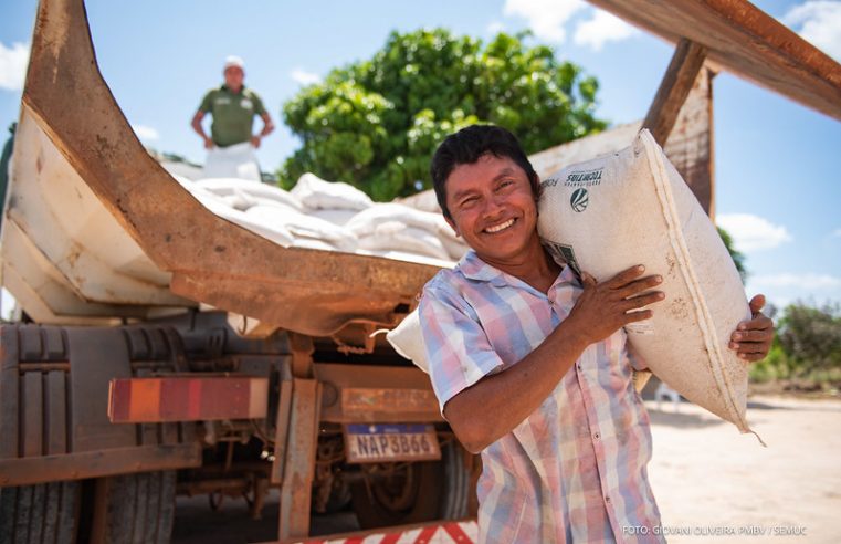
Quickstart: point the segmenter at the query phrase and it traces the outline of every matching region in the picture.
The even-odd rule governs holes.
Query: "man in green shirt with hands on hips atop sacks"
[[[208,149],[206,170],[211,171],[206,172],[206,177],[252,178],[256,175],[259,180],[260,169],[256,167],[254,149],[260,147],[263,137],[274,130],[274,123],[260,95],[245,87],[245,65],[242,59],[228,56],[222,73],[224,83],[204,95],[191,123]],[[213,117],[210,137],[201,125],[207,114]],[[255,115],[263,119],[263,129],[256,135],[252,134]],[[253,165],[255,172],[242,168],[242,165],[248,164]]]

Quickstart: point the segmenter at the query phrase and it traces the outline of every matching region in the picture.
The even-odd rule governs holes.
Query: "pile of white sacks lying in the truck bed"
[[[452,266],[466,245],[440,213],[377,203],[359,189],[305,174],[281,188],[238,178],[176,179],[210,211],[284,247]]]

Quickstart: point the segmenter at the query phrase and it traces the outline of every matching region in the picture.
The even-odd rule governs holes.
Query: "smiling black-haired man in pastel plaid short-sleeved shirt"
[[[536,230],[538,176],[504,128],[450,135],[431,174],[471,251],[425,285],[420,320],[443,416],[482,453],[480,541],[663,542],[622,329],[651,316],[661,279],[634,266],[597,283],[555,262]],[[732,337],[746,362],[770,348],[764,302]]]

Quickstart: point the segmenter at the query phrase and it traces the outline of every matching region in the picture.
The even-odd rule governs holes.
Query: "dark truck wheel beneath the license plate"
[[[459,520],[467,515],[471,474],[466,453],[450,442],[440,461],[382,464],[387,475],[372,475],[350,487],[353,505],[362,529]]]

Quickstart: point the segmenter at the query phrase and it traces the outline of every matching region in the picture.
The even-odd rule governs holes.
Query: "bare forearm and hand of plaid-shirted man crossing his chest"
[[[663,300],[661,292],[640,294],[661,282],[658,276],[638,279],[642,272],[641,266],[628,269],[601,284],[585,274],[584,292],[569,316],[537,348],[444,405],[459,441],[473,453],[482,451],[530,416],[587,346],[651,317],[650,310],[628,313]]]

